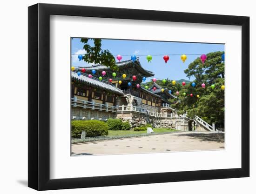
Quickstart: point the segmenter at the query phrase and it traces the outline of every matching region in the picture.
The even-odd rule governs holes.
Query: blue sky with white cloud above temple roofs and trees
[[[93,44],[92,41],[89,42]],[[139,57],[143,68],[153,71],[156,79],[180,80],[189,78],[184,73],[184,70],[188,68],[189,63],[193,62],[201,54],[207,54],[215,51],[224,51],[223,44],[205,44],[205,43],[183,43],[183,42],[161,42],[161,41],[141,41],[141,40],[109,40],[102,39],[102,49],[108,49],[116,58],[117,54],[122,55],[122,60],[130,60],[131,55],[135,54]],[[83,49],[83,43],[80,38],[73,38],[71,43],[72,66],[88,67],[88,64],[84,61],[78,60],[77,54],[85,54]],[[128,54],[128,56],[124,55]],[[148,63],[146,56],[140,56],[140,54],[161,54],[160,56],[152,56],[153,59]],[[165,54],[179,54],[170,56],[167,63],[163,60]],[[181,55],[187,54],[187,60],[185,63],[181,60]],[[200,55],[188,55],[188,54],[200,54]],[[116,59],[116,61],[118,61]],[[152,78],[147,78],[149,81]],[[191,77],[190,80],[194,78]]]

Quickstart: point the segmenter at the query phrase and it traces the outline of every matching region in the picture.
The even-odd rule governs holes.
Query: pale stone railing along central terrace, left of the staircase
[[[160,118],[184,118],[186,117],[185,114],[183,115],[178,115],[178,114],[161,114],[161,113],[156,113],[156,112],[150,112],[145,108],[141,108],[141,107],[135,107],[133,105],[129,105],[129,106],[125,106],[122,105],[118,108],[118,113],[122,113],[122,112],[138,112],[138,113],[142,113],[142,114],[148,114],[149,116],[154,116],[154,117],[160,117]]]

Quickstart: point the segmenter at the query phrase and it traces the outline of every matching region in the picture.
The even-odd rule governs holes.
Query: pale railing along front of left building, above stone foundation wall
[[[116,112],[117,107],[109,106],[108,103],[101,104],[96,103],[94,100],[87,101],[87,100],[80,100],[76,96],[71,98],[71,106],[72,107],[81,107],[81,108],[89,108],[92,110],[99,110],[99,111],[106,111],[106,112]]]

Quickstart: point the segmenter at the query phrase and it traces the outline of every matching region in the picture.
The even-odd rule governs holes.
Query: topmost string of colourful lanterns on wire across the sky
[[[74,54],[73,54],[73,55],[74,55]],[[161,55],[161,54],[152,54],[152,55],[154,55],[154,56],[159,56],[159,55]],[[146,59],[148,60],[148,62],[151,62],[151,60],[153,59],[152,55],[148,54],[148,55],[146,56]],[[168,54],[168,55],[164,55],[164,56],[163,56],[163,60],[165,61],[165,63],[167,63],[168,60],[170,59],[169,55],[179,55],[179,54]],[[201,59],[201,61],[202,61],[202,64],[204,64],[205,60],[207,60],[207,55],[206,55],[206,54],[187,54],[187,55],[201,55],[201,56],[200,56],[200,59]],[[183,61],[183,63],[185,63],[185,60],[187,60],[187,55],[186,55],[186,54],[182,54],[182,55],[181,55],[181,60]],[[139,54],[138,56],[145,56],[145,55],[144,55],[144,54]],[[79,54],[77,57],[78,57],[79,61],[81,61],[82,58],[83,58],[83,56],[82,56],[81,54]],[[137,57],[136,57],[135,55],[132,55],[132,56],[131,56],[131,60],[132,60],[133,62],[135,62],[136,58],[137,58]],[[120,62],[120,61],[122,60],[122,55],[121,55],[121,54],[118,54],[118,55],[116,56],[116,59]],[[225,54],[222,54],[222,60],[224,61],[224,59],[225,59]]]

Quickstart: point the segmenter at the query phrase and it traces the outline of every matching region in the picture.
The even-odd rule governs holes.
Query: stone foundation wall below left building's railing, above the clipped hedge
[[[106,120],[108,118],[116,118],[116,113],[78,107],[71,108],[72,120]]]

